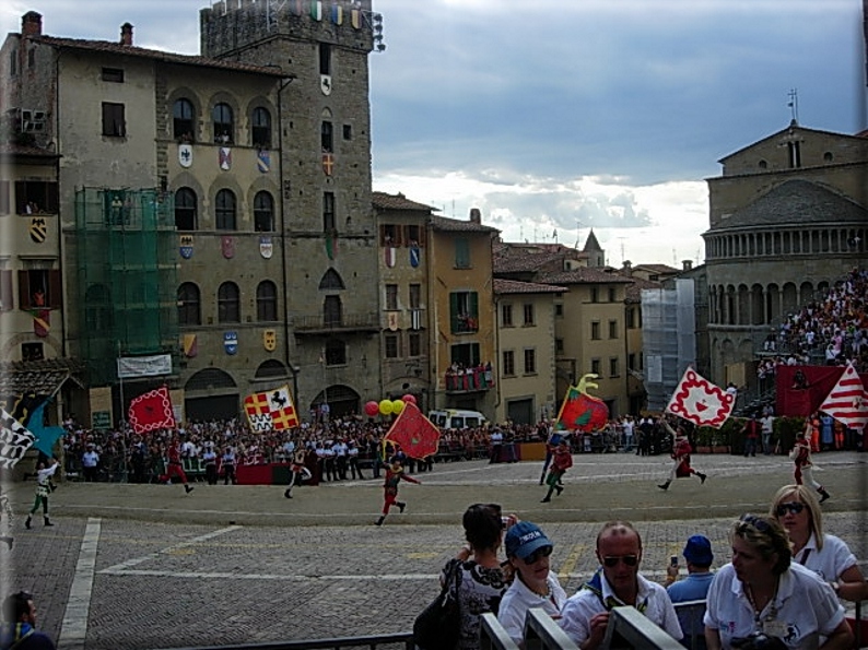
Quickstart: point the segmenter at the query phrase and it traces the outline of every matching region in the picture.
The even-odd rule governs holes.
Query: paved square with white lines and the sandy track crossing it
[[[566,489],[540,504],[540,462],[435,465],[404,483],[386,525],[378,481],[300,486],[62,483],[45,528],[24,529],[34,483],[8,486],[15,545],[0,549],[3,593],[34,592],[39,626],[61,650],[139,650],[266,642],[409,630],[435,595],[436,574],[462,543],[468,505],[495,501],[540,523],[555,542],[553,569],[567,593],[596,568],[600,522],[632,520],[644,541],[643,572],[662,580],[667,559],[696,532],[716,565],[727,531],[746,511],[763,512],[791,482],[784,457],[697,456],[705,485],[684,478],[656,487],[665,457],[577,454]],[[821,453],[816,472],[832,499],[829,532],[868,558],[868,454]],[[370,476],[370,472],[367,472]],[[865,565],[863,564],[863,568]]]

